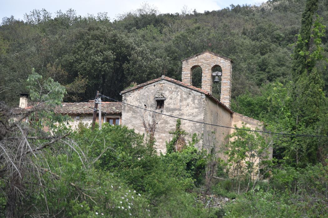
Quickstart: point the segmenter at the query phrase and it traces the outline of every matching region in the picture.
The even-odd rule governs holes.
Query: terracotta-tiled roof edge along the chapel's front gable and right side
[[[152,84],[154,82],[157,82],[157,81],[160,81],[160,80],[167,80],[167,81],[170,81],[170,82],[173,82],[175,84],[178,84],[180,86],[184,86],[186,88],[189,88],[189,89],[192,89],[192,90],[195,90],[197,92],[201,92],[201,93],[204,93],[206,94],[209,98],[211,98],[212,100],[214,100],[216,103],[218,103],[219,105],[221,105],[224,109],[228,110],[230,113],[233,113],[234,111],[232,111],[230,108],[228,108],[225,104],[223,104],[222,102],[220,102],[217,98],[215,98],[212,94],[210,94],[210,92],[206,91],[206,90],[203,90],[203,89],[200,89],[200,88],[197,88],[195,86],[191,86],[191,85],[188,85],[187,83],[184,83],[184,82],[181,82],[179,80],[176,80],[176,79],[172,79],[170,77],[167,77],[167,76],[162,76],[162,77],[159,77],[157,79],[153,79],[153,80],[150,80],[148,82],[145,82],[145,83],[142,83],[140,85],[137,85],[137,86],[134,86],[132,88],[129,88],[129,89],[126,89],[126,90],[123,90],[121,92],[121,94],[123,93],[126,93],[126,92],[131,92],[133,90],[136,90],[136,89],[142,89],[144,86],[146,85],[149,85],[149,84]]]

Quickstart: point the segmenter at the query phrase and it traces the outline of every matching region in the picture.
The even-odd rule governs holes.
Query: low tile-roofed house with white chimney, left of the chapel
[[[28,108],[28,94],[20,94],[19,107]],[[69,125],[75,129],[79,122],[84,124],[92,123],[94,101],[80,103],[62,103],[61,107],[56,107],[54,112],[57,114],[68,114],[72,118]],[[101,102],[101,121],[102,123],[110,123],[111,125],[121,124],[122,103],[121,102]],[[97,113],[96,122],[99,122]]]

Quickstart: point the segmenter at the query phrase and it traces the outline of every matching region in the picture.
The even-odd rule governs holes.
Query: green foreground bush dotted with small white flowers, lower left
[[[148,215],[146,210],[149,209],[149,202],[146,198],[109,172],[95,170],[92,162],[86,162],[92,161],[89,158],[92,158],[93,153],[82,160],[73,150],[70,153],[55,156],[51,152],[46,154],[47,163],[44,164],[49,164],[50,171],[46,171],[43,178],[47,189],[27,200],[27,206],[35,204],[31,209],[32,214],[48,208],[49,214],[62,217],[93,217],[101,214],[128,217],[129,213],[134,217]]]

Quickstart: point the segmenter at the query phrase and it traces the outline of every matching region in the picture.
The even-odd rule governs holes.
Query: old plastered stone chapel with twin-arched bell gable
[[[182,60],[182,82],[163,75],[122,91],[122,124],[137,133],[153,133],[158,153],[166,153],[165,142],[172,139],[177,118],[182,118],[182,129],[198,134],[196,146],[209,152],[227,143],[234,125],[263,128],[260,121],[230,109],[232,63],[205,51]],[[192,72],[198,66],[202,69],[201,88],[192,86]],[[212,73],[218,66],[222,69],[222,101],[212,95]],[[191,136],[185,138],[191,140]],[[219,157],[226,159],[223,154]]]

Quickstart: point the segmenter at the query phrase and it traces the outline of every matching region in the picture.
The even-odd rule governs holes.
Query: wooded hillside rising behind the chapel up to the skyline
[[[324,1],[317,5],[326,24],[327,7]],[[204,50],[234,60],[233,97],[247,91],[256,94],[263,83],[281,82],[290,74],[294,63],[289,45],[301,27],[304,7],[304,1],[288,0],[260,6],[232,5],[206,13],[159,14],[144,5],[114,22],[105,13],[83,17],[73,9],[55,14],[35,9],[25,15],[25,21],[4,18],[0,26],[0,86],[10,91],[2,92],[0,98],[10,102],[12,92],[22,92],[21,84],[34,67],[44,78],[53,68],[56,75],[63,71],[70,75],[51,75],[66,86],[67,101],[92,98],[97,90],[119,99],[118,93],[131,82],[143,83],[164,70],[165,75],[181,79],[180,60]],[[302,26],[312,25],[310,19],[316,11],[310,4],[306,8],[309,13],[303,14]],[[303,29],[303,41],[308,40],[303,35],[316,35],[311,28],[310,32]],[[319,38],[326,44],[324,37]],[[45,67],[48,64],[50,68]],[[12,105],[18,97],[14,101]]]

